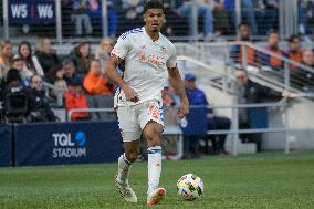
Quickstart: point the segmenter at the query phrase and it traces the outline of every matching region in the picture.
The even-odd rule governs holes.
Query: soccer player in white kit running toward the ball
[[[137,201],[127,177],[132,164],[137,159],[143,132],[148,145],[147,205],[156,205],[166,195],[166,190],[158,188],[158,185],[164,129],[161,90],[167,71],[172,87],[181,100],[179,118],[188,114],[189,102],[177,69],[175,46],[160,33],[165,20],[163,3],[157,0],[147,1],[143,17],[145,27],[119,36],[107,61],[106,71],[109,79],[119,86],[115,94],[115,107],[125,153],[118,158],[116,186],[126,201]],[[116,72],[119,64],[124,64],[122,77]]]

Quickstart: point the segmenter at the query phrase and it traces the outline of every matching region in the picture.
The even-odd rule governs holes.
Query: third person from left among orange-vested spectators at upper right
[[[286,52],[286,55],[289,59],[301,63],[302,62],[302,49],[300,44],[300,38],[297,35],[291,35],[287,40],[289,42],[289,51]],[[290,70],[297,71],[296,65],[289,65]]]

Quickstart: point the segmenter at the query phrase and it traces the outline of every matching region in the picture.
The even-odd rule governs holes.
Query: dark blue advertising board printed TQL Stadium
[[[119,138],[117,122],[15,125],[15,165],[116,161],[122,147]]]

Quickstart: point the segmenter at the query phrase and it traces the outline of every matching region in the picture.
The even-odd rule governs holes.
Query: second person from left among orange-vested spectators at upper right
[[[280,41],[279,32],[275,30],[271,30],[269,33],[269,38],[268,38],[269,44],[266,45],[265,49],[272,53],[283,56],[284,52],[279,48],[279,41]],[[283,69],[282,59],[279,59],[279,58],[265,54],[265,53],[261,54],[260,58],[261,58],[262,65],[271,67],[271,70],[279,71]]]

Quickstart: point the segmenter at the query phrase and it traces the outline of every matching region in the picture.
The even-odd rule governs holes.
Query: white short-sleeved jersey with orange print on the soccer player
[[[148,100],[161,102],[167,69],[177,64],[175,45],[167,38],[159,33],[159,39],[153,42],[144,27],[134,29],[119,36],[112,54],[125,61],[123,80],[139,97],[137,103],[127,101],[118,88],[115,106],[129,106]]]

